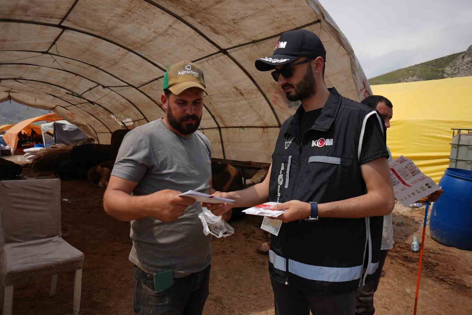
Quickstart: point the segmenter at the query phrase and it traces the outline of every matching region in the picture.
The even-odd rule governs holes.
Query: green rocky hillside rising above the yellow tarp
[[[463,52],[433,59],[369,79],[371,85],[472,75],[472,45]]]

